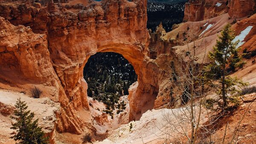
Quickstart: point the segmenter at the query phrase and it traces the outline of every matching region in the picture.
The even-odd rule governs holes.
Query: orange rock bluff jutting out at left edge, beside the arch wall
[[[3,17],[0,17],[0,23],[0,69],[17,71],[27,79],[41,82],[52,79],[54,71],[49,58],[47,36],[34,34],[31,28],[23,25],[14,26]]]

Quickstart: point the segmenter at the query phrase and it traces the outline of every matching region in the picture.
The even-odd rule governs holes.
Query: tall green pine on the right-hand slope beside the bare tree
[[[229,103],[237,104],[237,99],[230,96],[230,94],[234,94],[238,92],[235,86],[239,88],[246,85],[246,83],[242,82],[237,78],[231,78],[227,76],[227,67],[229,64],[228,60],[232,56],[236,56],[238,50],[236,48],[238,42],[233,42],[235,36],[233,31],[231,30],[231,25],[228,24],[224,27],[223,31],[221,31],[221,37],[218,37],[217,43],[213,48],[213,52],[209,53],[209,59],[211,60],[211,64],[209,64],[207,69],[207,75],[212,76],[212,79],[218,80],[221,84],[218,86],[218,90],[216,93],[220,96],[222,103],[220,104],[218,100],[207,100],[208,107],[212,107],[217,103],[219,106],[226,108]],[[232,65],[236,65],[239,60],[232,61]],[[210,73],[210,74],[209,74]]]

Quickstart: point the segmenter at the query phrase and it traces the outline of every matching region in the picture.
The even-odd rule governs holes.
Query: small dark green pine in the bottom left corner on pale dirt
[[[28,108],[26,103],[18,99],[15,107],[14,116],[11,116],[11,119],[17,122],[12,124],[11,129],[17,130],[17,133],[11,138],[19,144],[48,144],[48,138],[42,128],[38,127],[38,119],[33,121],[35,114],[26,110]]]

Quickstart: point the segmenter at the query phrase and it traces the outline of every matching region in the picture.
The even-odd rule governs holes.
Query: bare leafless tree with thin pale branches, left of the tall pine
[[[192,23],[192,33],[195,37]],[[163,110],[162,115],[167,124],[164,125],[165,129],[162,133],[166,135],[166,141],[174,143],[198,143],[199,129],[204,128],[201,124],[205,121],[214,122],[210,118],[202,117],[203,102],[205,97],[209,94],[205,90],[205,77],[204,77],[204,61],[207,56],[207,47],[205,45],[202,57],[197,57],[197,48],[200,48],[205,42],[203,35],[202,41],[199,45],[193,41],[193,47],[189,48],[187,42],[186,56],[178,56],[176,59],[177,64],[172,62],[169,73],[169,77],[172,77],[172,87],[170,88],[170,98],[172,101],[180,103],[180,108],[170,109],[168,111]],[[206,42],[205,42],[206,44]],[[179,48],[179,47],[178,47]],[[181,51],[181,50],[180,50]],[[175,96],[173,96],[175,95]],[[175,97],[175,98],[173,98]],[[170,104],[172,105],[172,104]],[[160,127],[159,127],[160,129]],[[204,133],[209,133],[206,129]],[[184,136],[184,137],[180,137]]]

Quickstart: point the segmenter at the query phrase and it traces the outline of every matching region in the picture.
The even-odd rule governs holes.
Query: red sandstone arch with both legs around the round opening
[[[88,108],[86,89],[82,86],[81,78],[87,59],[96,52],[122,54],[134,66],[139,85],[130,98],[130,120],[139,119],[142,113],[154,107],[158,84],[154,79],[156,75],[148,67],[146,0],[103,0],[101,3],[104,5],[98,3],[86,11],[79,11],[78,19],[83,17],[85,21],[64,28],[59,28],[60,23],[52,22],[48,30],[50,57],[64,89],[64,96],[59,96],[64,107],[58,119],[59,131],[81,131],[83,122],[76,115],[76,110]],[[99,13],[93,16],[88,14],[93,10]],[[102,16],[100,11],[104,11]]]

